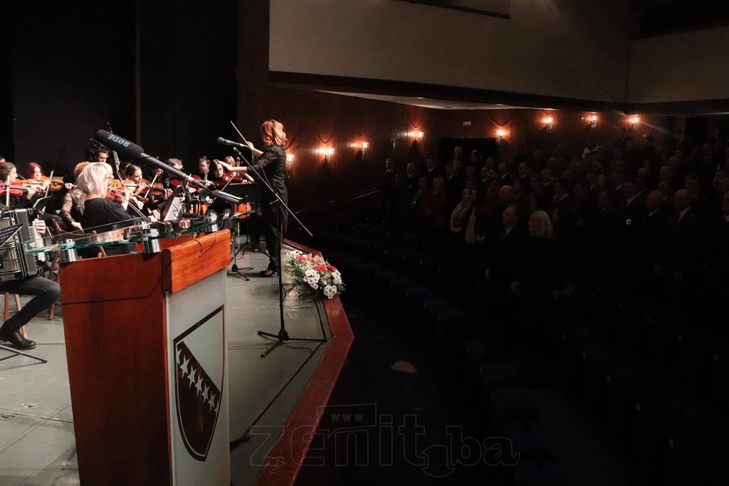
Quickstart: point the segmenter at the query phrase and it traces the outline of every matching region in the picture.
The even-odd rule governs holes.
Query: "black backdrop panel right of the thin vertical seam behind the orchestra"
[[[141,2],[141,145],[179,157],[222,157],[236,117],[237,2]]]

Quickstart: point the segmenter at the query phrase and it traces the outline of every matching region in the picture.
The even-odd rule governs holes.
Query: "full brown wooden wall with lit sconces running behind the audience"
[[[596,128],[590,129],[593,112],[585,111],[446,111],[280,87],[270,87],[269,94],[265,117],[284,123],[286,150],[295,155],[287,181],[294,211],[379,187],[387,157],[394,159],[398,171],[405,171],[408,162],[424,168],[426,157],[438,153],[440,137],[496,137],[501,128],[505,134],[499,158],[510,161],[522,143],[530,153],[542,149],[549,154],[562,144],[572,154],[582,152],[588,136],[604,144],[626,128],[638,146],[645,145],[644,136],[652,135],[662,149],[672,133],[671,118],[658,115],[639,117],[638,130],[631,133],[631,117],[616,112],[596,113]],[[550,133],[545,129],[547,116],[553,117]],[[418,131],[424,132],[422,141],[413,136]],[[362,141],[370,144],[364,158]],[[335,150],[331,165],[320,152],[328,148]]]

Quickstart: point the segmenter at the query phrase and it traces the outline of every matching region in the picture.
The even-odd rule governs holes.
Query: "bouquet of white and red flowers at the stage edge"
[[[307,302],[331,299],[344,291],[342,274],[321,256],[292,251],[286,256],[284,273],[291,278],[286,290],[296,289]]]

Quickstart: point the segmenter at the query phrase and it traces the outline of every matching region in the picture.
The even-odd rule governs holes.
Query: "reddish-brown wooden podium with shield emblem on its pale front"
[[[222,230],[61,267],[83,486],[230,485],[229,263]]]

